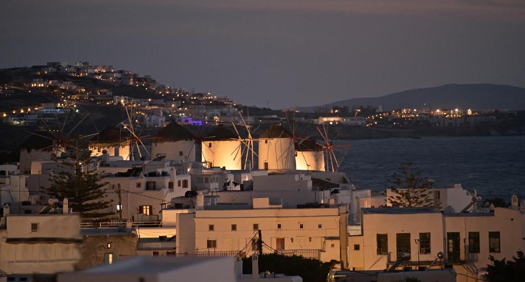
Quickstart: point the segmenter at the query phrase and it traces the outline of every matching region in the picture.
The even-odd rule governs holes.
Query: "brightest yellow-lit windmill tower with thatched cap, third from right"
[[[240,170],[242,158],[240,154],[235,154],[240,146],[238,137],[223,124],[219,124],[202,140],[202,160],[209,166]]]

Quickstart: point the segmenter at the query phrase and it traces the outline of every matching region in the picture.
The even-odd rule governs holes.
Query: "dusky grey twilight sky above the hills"
[[[525,87],[525,0],[2,0],[0,68],[78,60],[272,108]]]

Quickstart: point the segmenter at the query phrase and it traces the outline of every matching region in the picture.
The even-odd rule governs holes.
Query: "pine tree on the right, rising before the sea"
[[[388,182],[388,188],[394,193],[387,199],[392,206],[437,207],[433,197],[430,197],[432,182],[419,177],[419,169],[413,162],[403,163]]]

